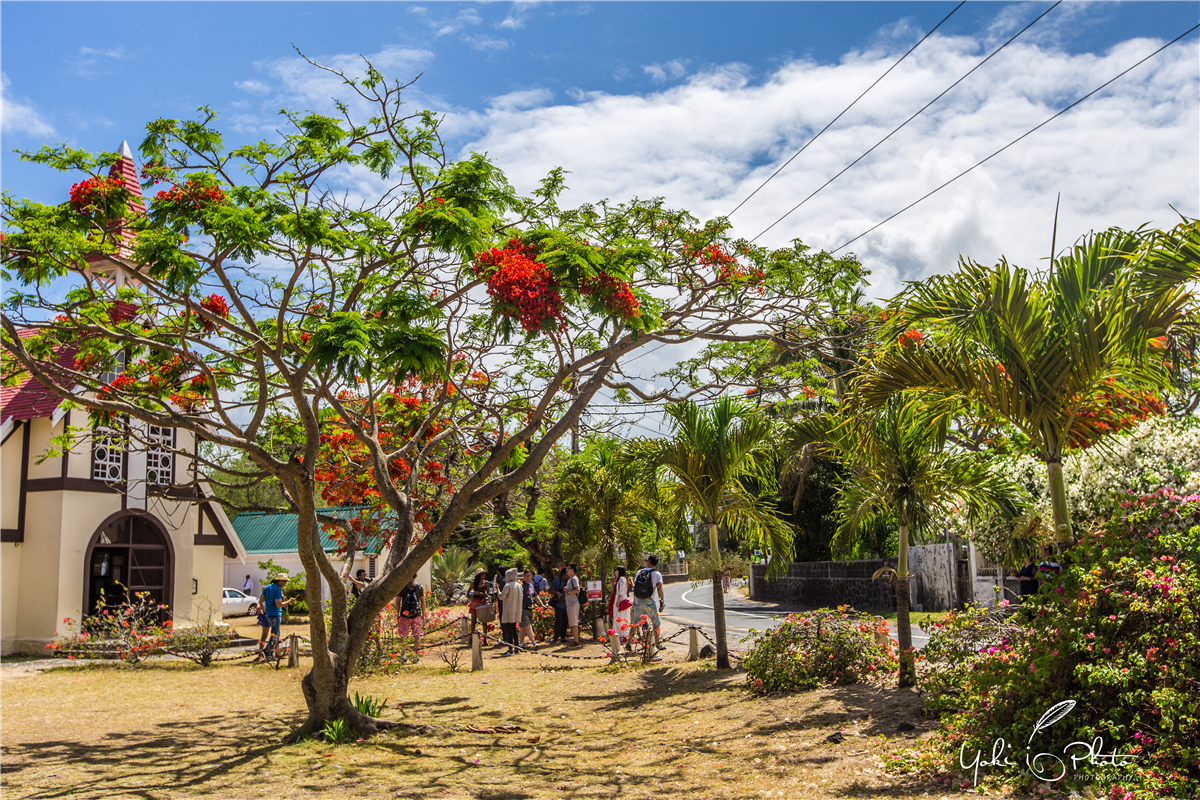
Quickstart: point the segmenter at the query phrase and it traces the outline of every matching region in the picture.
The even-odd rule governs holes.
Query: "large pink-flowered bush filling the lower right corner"
[[[940,670],[926,680],[944,715],[935,750],[946,770],[960,750],[990,758],[994,742],[1050,753],[1060,787],[1100,783],[1135,796],[1194,796],[1200,786],[1200,495],[1163,489],[1124,500],[1085,534],[1068,565],[1003,622],[982,612],[934,626],[925,649]],[[1002,609],[1004,610],[1004,609]],[[1002,613],[1001,613],[1002,615]],[[1074,702],[1039,726],[1050,708]],[[1073,764],[1084,745],[1135,756],[1133,763]],[[984,770],[1033,784],[1022,757]],[[1189,789],[1190,787],[1190,789]]]

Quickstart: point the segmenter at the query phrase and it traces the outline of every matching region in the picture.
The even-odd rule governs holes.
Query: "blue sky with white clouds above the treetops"
[[[665,197],[731,209],[938,20],[950,2],[67,4],[0,8],[0,179],[43,201],[68,176],[14,148],[137,148],[145,122],[221,114],[274,136],[281,107],[328,109],[301,62],[365,54],[488,152],[521,190],[556,166],[568,203]],[[967,2],[731,218],[752,236],[1052,5]],[[833,248],[1200,22],[1198,2],[1064,2],[761,240]],[[1034,266],[1092,229],[1200,215],[1200,36],[1154,56],[851,247],[889,296],[959,255]],[[641,363],[649,374],[654,357]]]

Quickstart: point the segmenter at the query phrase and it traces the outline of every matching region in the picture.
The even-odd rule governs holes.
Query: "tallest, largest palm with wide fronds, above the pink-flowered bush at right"
[[[890,330],[899,347],[871,365],[860,398],[919,390],[1015,426],[1046,464],[1055,529],[1069,541],[1063,451],[1148,413],[1147,391],[1170,383],[1152,342],[1184,319],[1187,282],[1200,277],[1195,222],[1178,230],[1088,236],[1044,277],[962,259],[954,275],[910,284]]]

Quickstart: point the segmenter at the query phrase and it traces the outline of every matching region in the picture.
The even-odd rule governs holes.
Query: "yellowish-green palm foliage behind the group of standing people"
[[[600,552],[601,573],[616,563],[618,548],[626,561],[641,563],[642,531],[652,516],[632,474],[617,464],[619,451],[616,439],[592,439],[563,465],[554,486],[560,507],[586,515],[580,545]]]

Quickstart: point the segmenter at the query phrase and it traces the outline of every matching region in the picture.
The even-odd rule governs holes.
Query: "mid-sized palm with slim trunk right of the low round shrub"
[[[902,396],[877,411],[830,411],[788,423],[788,452],[805,446],[847,468],[838,497],[836,539],[845,542],[882,518],[900,527],[896,563],[896,628],[900,686],[916,682],[908,619],[908,541],[940,516],[956,509],[976,517],[1016,492],[973,453],[947,449],[944,417],[931,419]],[[836,541],[836,540],[835,540]]]

